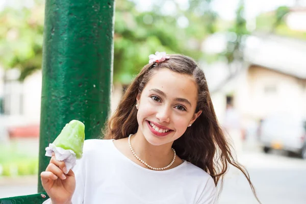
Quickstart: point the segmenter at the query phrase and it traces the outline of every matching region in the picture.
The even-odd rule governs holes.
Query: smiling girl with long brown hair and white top
[[[203,71],[183,55],[150,55],[109,118],[104,139],[84,143],[77,165],[53,156],[41,182],[44,203],[200,203],[233,157],[212,105]],[[257,197],[257,196],[256,196]]]

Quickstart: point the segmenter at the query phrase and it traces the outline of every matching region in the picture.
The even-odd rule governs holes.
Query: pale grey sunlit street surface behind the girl
[[[247,152],[239,157],[263,204],[306,203],[306,161],[277,154]],[[0,183],[0,197],[36,193],[36,177],[27,182]],[[218,204],[256,204],[245,177],[232,168],[224,179]]]

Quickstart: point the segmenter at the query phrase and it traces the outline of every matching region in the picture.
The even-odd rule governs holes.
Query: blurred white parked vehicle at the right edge
[[[278,114],[261,121],[259,140],[264,152],[282,149],[306,159],[306,120]]]

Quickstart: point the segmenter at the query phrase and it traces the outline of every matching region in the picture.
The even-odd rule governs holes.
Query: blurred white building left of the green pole
[[[41,101],[41,71],[19,82],[18,69],[0,69],[0,140],[38,137]]]

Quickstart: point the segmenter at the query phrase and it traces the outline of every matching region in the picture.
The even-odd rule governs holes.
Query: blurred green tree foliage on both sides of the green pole
[[[156,51],[203,56],[202,40],[216,31],[211,0],[190,1],[188,8],[176,4],[175,14],[162,12],[165,2],[140,12],[135,2],[116,1],[114,34],[114,82],[128,84],[148,56]],[[20,80],[41,68],[44,5],[6,8],[0,13],[0,64],[19,68]],[[192,23],[191,23],[192,22]]]

